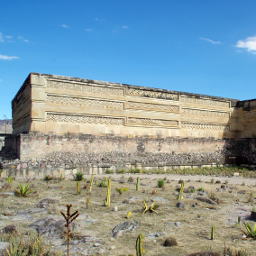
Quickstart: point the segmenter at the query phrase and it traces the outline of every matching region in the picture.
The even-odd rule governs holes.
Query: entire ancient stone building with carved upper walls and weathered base
[[[21,160],[254,163],[256,100],[31,73],[12,108]]]

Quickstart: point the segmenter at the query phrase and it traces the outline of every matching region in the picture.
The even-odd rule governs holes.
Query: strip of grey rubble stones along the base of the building
[[[232,151],[215,151],[212,153],[75,153],[75,152],[54,152],[43,159],[19,160],[12,150],[0,151],[0,163],[5,169],[26,169],[26,168],[58,168],[62,165],[89,166],[91,164],[100,165],[124,165],[125,163],[137,162],[140,164],[192,164],[192,163],[223,163],[226,156],[232,155]]]

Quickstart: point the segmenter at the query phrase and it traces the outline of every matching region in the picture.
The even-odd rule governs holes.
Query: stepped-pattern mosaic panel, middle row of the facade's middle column
[[[153,103],[143,103],[136,101],[128,101],[127,108],[134,109],[146,109],[153,111],[167,111],[167,112],[178,112],[178,105],[161,105],[161,104],[153,104]]]

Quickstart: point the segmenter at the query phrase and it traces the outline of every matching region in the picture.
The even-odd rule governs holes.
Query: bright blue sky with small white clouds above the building
[[[30,72],[255,98],[255,11],[255,0],[0,0],[0,119]]]

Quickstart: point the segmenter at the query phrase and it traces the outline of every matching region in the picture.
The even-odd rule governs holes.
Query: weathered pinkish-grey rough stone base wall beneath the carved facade
[[[16,144],[15,144],[16,143]],[[110,135],[18,134],[6,145],[20,150],[20,160],[98,163],[224,163],[234,155],[232,139],[151,138]]]

